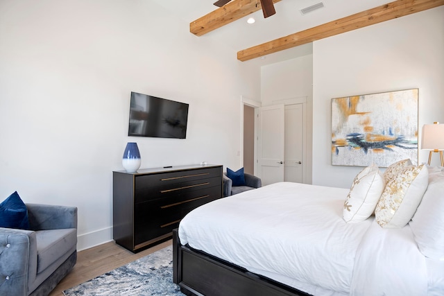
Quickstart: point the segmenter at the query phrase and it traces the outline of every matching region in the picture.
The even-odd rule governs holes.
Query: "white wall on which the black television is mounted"
[[[112,171],[239,166],[259,69],[151,1],[0,1],[0,200],[78,207],[78,250],[112,239]],[[128,137],[130,92],[189,103],[187,139]]]

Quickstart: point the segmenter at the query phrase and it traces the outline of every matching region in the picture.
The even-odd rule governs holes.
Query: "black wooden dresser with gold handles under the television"
[[[221,198],[221,165],[112,172],[113,238],[139,252],[171,238],[192,209]]]

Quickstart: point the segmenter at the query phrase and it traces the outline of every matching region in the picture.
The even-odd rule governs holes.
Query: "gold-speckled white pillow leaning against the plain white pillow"
[[[384,228],[407,225],[429,183],[429,172],[424,164],[409,166],[386,184],[377,203],[375,216]]]

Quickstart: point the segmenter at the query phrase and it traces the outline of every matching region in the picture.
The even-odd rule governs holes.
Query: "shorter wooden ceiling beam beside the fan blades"
[[[273,3],[279,1],[281,0],[273,0]],[[202,36],[260,9],[262,9],[262,6],[259,0],[232,0],[225,6],[191,21],[189,31],[194,35]]]

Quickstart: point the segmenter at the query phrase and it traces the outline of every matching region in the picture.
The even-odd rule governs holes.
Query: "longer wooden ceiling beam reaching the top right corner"
[[[398,0],[391,3],[378,6],[355,15],[336,19],[329,23],[309,28],[305,31],[300,31],[285,37],[259,44],[238,51],[237,59],[242,62],[259,58],[263,55],[276,53],[285,49],[290,49],[295,46],[321,40],[325,37],[331,37],[348,31],[356,30],[357,28],[364,28],[373,24],[378,24],[382,21],[396,19],[405,15],[420,12],[430,8],[435,8],[444,5],[444,0]]]

